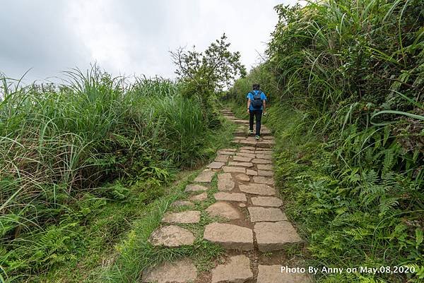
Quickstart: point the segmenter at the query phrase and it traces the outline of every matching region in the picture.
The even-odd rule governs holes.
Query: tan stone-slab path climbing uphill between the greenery
[[[216,159],[185,188],[187,200],[177,200],[171,205],[187,210],[166,212],[162,226],[153,231],[149,241],[153,246],[192,245],[194,235],[179,225],[200,221],[201,212],[194,210],[194,203],[208,199],[209,185],[218,174],[218,192],[213,193],[216,203],[205,211],[223,220],[207,224],[203,239],[227,249],[227,259],[225,263],[217,263],[208,274],[200,275],[192,260],[182,258],[143,272],[141,281],[312,282],[307,275],[281,272],[281,266],[287,265],[279,260],[281,256],[264,260],[264,253],[273,258],[273,253],[281,255],[292,245],[302,246],[302,239],[281,210],[283,202],[274,188],[271,132],[262,126],[261,140],[254,140],[247,136],[248,121],[235,118],[228,109],[222,114],[240,124],[232,141],[235,147],[218,150]]]

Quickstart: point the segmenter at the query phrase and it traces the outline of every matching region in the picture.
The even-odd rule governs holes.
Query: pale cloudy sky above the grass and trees
[[[97,62],[114,74],[175,77],[169,51],[225,32],[249,69],[296,0],[0,0],[0,72],[25,81]]]

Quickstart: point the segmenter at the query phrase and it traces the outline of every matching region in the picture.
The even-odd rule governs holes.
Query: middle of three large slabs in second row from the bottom
[[[226,223],[207,224],[204,239],[219,243],[223,248],[240,251],[253,250],[252,229]]]

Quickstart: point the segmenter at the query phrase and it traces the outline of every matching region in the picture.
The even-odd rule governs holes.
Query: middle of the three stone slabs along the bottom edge
[[[218,265],[212,270],[212,283],[242,283],[253,279],[250,260],[246,255],[235,255],[225,265]]]

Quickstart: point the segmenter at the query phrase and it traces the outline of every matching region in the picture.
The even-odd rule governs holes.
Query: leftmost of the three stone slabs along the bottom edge
[[[194,282],[197,269],[192,260],[182,259],[174,263],[163,263],[151,270],[143,272],[141,282],[155,283],[185,283]]]

